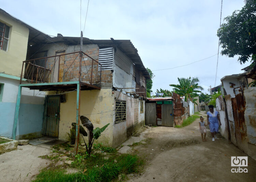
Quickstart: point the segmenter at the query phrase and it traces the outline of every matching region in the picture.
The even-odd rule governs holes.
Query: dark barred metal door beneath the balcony
[[[58,137],[59,135],[60,95],[46,95],[44,101],[42,134]]]

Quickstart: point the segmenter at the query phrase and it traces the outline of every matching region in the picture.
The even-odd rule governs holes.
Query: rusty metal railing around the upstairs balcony
[[[30,59],[23,61],[20,84],[25,78],[31,84],[81,81],[100,87],[99,67],[98,61],[82,51]]]

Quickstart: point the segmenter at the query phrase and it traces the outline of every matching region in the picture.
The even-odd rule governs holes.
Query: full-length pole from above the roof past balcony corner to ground
[[[81,31],[81,39],[80,39],[80,62],[79,62],[79,84],[77,84],[76,89],[76,127],[75,127],[75,147],[74,147],[74,155],[77,154],[78,145],[79,145],[79,128],[80,128],[80,95],[81,95],[81,75],[82,75],[82,47],[83,47],[83,32]]]

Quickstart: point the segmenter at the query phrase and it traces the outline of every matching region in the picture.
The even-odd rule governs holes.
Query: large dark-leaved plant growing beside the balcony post
[[[93,129],[94,128],[93,123],[91,123],[91,121],[87,117],[80,116],[80,120],[81,120],[82,126],[85,126],[87,129],[88,134],[86,133],[85,130],[83,132],[84,132],[84,134],[86,133],[86,136],[88,136],[88,145],[85,142],[84,143],[85,143],[85,147],[86,147],[88,156],[90,156],[91,147],[93,146],[94,140],[97,140],[100,137],[101,133],[106,129],[106,127],[109,126],[109,124],[106,124],[102,128],[97,127],[95,129]],[[80,128],[83,128],[83,127],[81,127],[81,125],[80,125]],[[81,131],[81,130],[79,130],[79,131]]]

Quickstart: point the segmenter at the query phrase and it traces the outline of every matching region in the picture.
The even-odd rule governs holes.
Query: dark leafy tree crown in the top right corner
[[[256,61],[256,0],[246,0],[242,10],[236,10],[224,18],[226,23],[217,31],[221,54],[229,57],[239,55],[240,63],[252,57]]]

